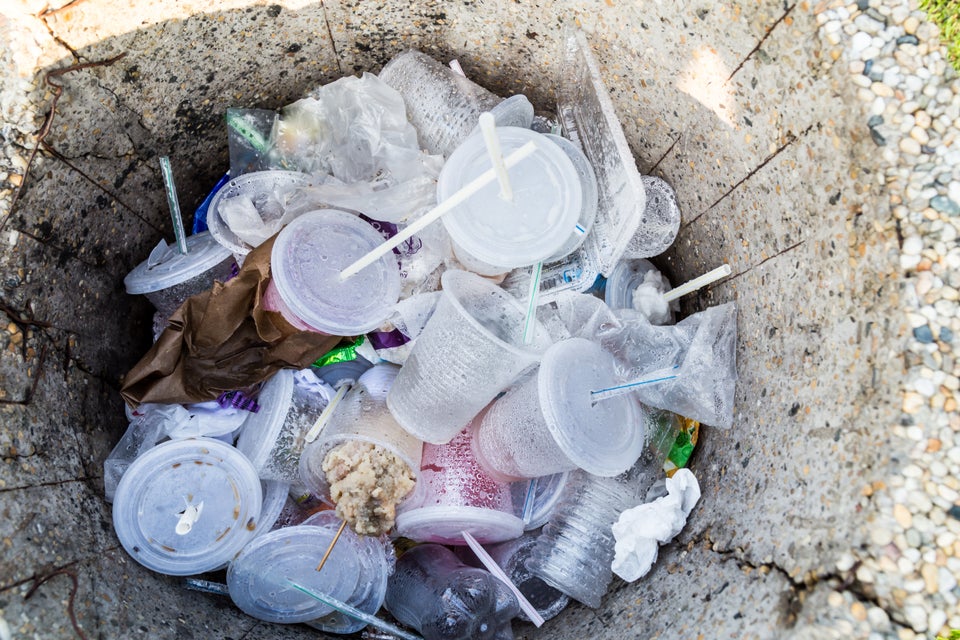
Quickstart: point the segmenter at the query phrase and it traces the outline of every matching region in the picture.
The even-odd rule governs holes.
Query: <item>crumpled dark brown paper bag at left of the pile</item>
[[[299,331],[263,308],[275,240],[251,251],[235,277],[188,298],[170,316],[159,340],[124,378],[120,394],[129,405],[216,400],[280,369],[306,368],[337,345],[339,336]]]

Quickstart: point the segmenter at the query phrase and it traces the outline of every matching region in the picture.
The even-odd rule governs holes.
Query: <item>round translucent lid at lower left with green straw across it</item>
[[[294,588],[348,601],[361,577],[361,559],[354,540],[343,535],[317,571],[336,528],[297,525],[266,533],[246,547],[227,569],[230,598],[246,614],[267,622],[306,622],[331,608]],[[346,534],[346,532],[344,532]]]

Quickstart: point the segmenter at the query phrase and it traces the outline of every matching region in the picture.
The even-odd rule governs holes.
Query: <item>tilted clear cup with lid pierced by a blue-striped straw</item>
[[[505,480],[577,467],[598,476],[626,471],[645,438],[637,404],[629,395],[596,403],[590,395],[616,382],[614,358],[599,345],[558,342],[536,373],[491,404],[474,439],[477,459]]]

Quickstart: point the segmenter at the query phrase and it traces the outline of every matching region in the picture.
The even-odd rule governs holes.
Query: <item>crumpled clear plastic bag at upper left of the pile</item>
[[[443,158],[421,151],[403,97],[373,74],[288,105],[271,142],[284,168],[327,176],[305,197],[394,223],[436,204]]]

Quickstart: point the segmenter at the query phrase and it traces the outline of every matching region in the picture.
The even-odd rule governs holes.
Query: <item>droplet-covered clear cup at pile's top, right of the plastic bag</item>
[[[529,128],[533,105],[522,95],[506,100],[416,50],[384,65],[379,78],[400,92],[420,145],[444,157],[477,127],[480,114],[493,113],[498,126]]]

